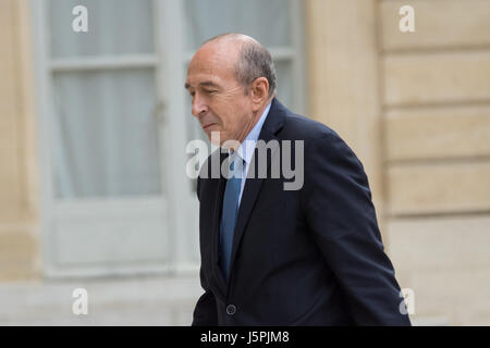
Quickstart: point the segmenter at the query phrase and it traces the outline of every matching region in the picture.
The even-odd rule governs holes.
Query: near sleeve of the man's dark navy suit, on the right
[[[305,140],[302,204],[358,325],[411,325],[384,253],[363,164],[334,133]]]

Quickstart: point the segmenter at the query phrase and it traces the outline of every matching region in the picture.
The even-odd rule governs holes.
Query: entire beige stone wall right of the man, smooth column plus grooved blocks
[[[399,29],[402,5],[415,33]],[[490,1],[309,0],[310,110],[365,163],[415,321],[490,325]]]

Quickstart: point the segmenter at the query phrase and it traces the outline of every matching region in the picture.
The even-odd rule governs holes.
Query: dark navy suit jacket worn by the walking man
[[[304,140],[303,188],[284,190],[283,176],[247,178],[225,282],[219,265],[225,178],[198,178],[205,294],[193,325],[409,325],[354,152],[335,132],[277,99],[259,139]],[[222,161],[220,152],[203,171],[210,175],[207,164]]]

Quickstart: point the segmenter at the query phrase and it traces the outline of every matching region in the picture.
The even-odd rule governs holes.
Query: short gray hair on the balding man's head
[[[242,48],[235,64],[236,80],[244,86],[248,94],[248,86],[259,77],[266,77],[269,83],[269,97],[275,96],[277,78],[272,55],[260,42],[243,34],[226,33],[215,36],[203,45],[218,39],[242,39]]]

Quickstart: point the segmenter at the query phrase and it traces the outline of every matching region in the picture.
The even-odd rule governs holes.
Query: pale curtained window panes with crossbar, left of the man
[[[71,11],[81,3],[89,11],[89,33],[70,29]],[[151,1],[47,4],[56,196],[160,194]]]

